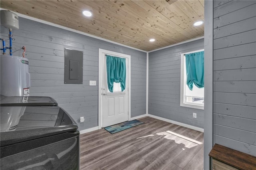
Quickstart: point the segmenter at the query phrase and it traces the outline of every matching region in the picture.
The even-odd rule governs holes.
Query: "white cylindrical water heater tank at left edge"
[[[1,95],[29,96],[28,59],[1,54]]]

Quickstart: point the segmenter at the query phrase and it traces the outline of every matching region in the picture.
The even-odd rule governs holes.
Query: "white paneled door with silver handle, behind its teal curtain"
[[[107,69],[106,69],[106,55],[112,55],[115,57],[122,57],[126,59],[126,88],[121,91],[120,83],[114,83],[113,93],[108,89]],[[128,121],[128,63],[129,58],[116,55],[116,53],[104,53],[102,52],[102,127],[108,127],[121,122]],[[100,78],[100,77],[99,77]]]

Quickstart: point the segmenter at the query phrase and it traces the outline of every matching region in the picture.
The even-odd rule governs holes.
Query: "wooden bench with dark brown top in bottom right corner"
[[[256,170],[256,157],[215,144],[209,153],[212,170]],[[212,166],[211,166],[212,165]]]

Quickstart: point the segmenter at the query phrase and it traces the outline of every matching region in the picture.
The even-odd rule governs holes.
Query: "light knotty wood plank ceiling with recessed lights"
[[[1,0],[0,5],[145,51],[204,36],[204,24],[193,26],[204,20],[204,0]],[[92,16],[82,16],[82,10]]]

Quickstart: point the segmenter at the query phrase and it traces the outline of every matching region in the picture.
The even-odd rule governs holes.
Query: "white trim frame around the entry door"
[[[131,56],[99,48],[98,127],[102,128],[102,53],[128,58],[128,121],[131,120]]]

